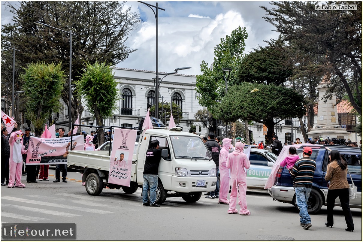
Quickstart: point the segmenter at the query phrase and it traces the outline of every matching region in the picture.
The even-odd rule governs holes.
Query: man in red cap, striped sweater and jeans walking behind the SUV
[[[316,163],[310,159],[313,150],[310,147],[304,147],[302,158],[297,160],[291,169],[291,176],[295,179],[296,204],[300,210],[300,225],[303,229],[311,227],[311,218],[307,213],[307,200],[313,186],[314,172]]]

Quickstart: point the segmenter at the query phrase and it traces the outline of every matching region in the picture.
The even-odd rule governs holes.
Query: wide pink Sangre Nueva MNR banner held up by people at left
[[[70,136],[58,139],[30,137],[26,165],[67,164],[69,150],[83,151],[84,136],[73,136],[70,147]]]

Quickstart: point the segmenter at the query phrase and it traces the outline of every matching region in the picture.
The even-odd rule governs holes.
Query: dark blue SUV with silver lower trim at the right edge
[[[309,146],[313,150],[311,159],[315,160],[317,165],[314,173],[313,188],[311,189],[310,197],[307,202],[308,212],[314,214],[319,212],[322,205],[326,206],[328,187],[324,177],[329,162],[330,150],[334,149],[338,150],[347,161],[348,170],[352,176],[354,185],[358,188],[357,197],[355,199],[350,199],[350,207],[362,208],[362,149],[341,145],[301,144],[299,147],[295,146],[300,157],[302,157],[302,149],[305,146]],[[289,148],[289,146],[285,147]],[[352,184],[349,174],[347,174],[347,180],[349,184]],[[274,185],[272,188],[268,189],[268,192],[273,200],[290,203],[297,208],[293,179],[286,167],[280,167],[280,169],[278,169]],[[339,198],[335,200],[335,206],[340,206]]]

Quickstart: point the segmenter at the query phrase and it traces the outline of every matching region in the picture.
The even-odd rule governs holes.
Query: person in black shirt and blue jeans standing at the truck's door
[[[142,205],[150,207],[160,207],[156,204],[156,188],[158,187],[158,170],[161,159],[161,150],[159,149],[159,140],[150,142],[150,149],[146,151],[144,165],[144,183],[142,186]],[[150,189],[150,201],[147,198],[147,192]]]

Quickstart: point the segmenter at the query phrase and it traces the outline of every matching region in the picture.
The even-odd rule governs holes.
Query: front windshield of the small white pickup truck
[[[176,159],[212,159],[203,141],[195,136],[170,136]]]

